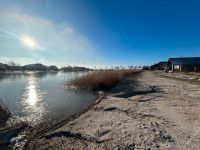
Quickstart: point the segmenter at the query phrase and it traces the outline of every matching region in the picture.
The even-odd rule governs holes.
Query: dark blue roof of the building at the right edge
[[[192,65],[200,64],[200,57],[180,57],[180,58],[170,58],[169,62],[174,65]]]

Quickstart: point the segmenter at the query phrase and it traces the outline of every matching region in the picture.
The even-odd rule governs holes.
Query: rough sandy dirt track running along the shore
[[[94,108],[29,149],[200,149],[200,85],[152,72],[124,80]]]

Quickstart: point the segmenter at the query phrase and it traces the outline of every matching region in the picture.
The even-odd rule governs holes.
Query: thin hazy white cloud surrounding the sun
[[[40,46],[37,51],[28,51],[23,46],[19,40],[23,35],[37,41]],[[60,27],[48,19],[23,13],[0,12],[0,43],[1,60],[16,58],[22,64],[38,60],[83,64],[85,60],[98,58],[88,38],[73,27],[66,24]]]

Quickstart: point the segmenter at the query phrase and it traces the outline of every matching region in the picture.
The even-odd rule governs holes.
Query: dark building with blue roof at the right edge
[[[180,57],[168,60],[173,72],[200,72],[200,57]]]

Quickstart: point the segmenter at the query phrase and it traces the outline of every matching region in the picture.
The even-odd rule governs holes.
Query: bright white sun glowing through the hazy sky
[[[23,35],[21,37],[21,42],[26,48],[30,48],[30,49],[37,48],[36,40],[28,35]]]

